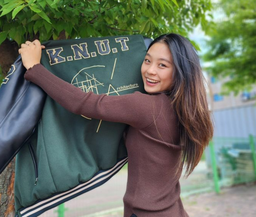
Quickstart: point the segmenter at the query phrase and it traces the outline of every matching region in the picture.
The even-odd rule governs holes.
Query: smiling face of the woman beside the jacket
[[[165,42],[153,44],[141,65],[144,89],[147,93],[169,89],[172,82],[172,54]]]

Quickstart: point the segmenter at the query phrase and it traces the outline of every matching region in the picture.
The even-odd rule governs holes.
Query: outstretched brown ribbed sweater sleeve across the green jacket
[[[120,96],[94,94],[92,91],[85,93],[53,75],[41,64],[29,68],[24,78],[40,86],[69,112],[103,121],[123,122],[139,129],[153,123],[162,106],[161,95],[138,91]]]

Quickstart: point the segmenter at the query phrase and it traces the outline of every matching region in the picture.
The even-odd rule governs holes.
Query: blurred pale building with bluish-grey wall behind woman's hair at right
[[[210,105],[215,122],[215,137],[247,137],[256,132],[256,86],[237,96],[221,94],[226,79],[208,77]]]

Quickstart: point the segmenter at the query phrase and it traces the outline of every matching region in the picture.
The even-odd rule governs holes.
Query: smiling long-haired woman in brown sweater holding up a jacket
[[[28,44],[30,43],[30,44]],[[40,64],[41,43],[22,44],[24,77],[78,115],[129,125],[124,217],[188,217],[179,179],[189,175],[213,136],[204,77],[192,44],[177,34],[155,39],[141,66],[148,94],[85,93]],[[28,45],[27,45],[28,44]]]

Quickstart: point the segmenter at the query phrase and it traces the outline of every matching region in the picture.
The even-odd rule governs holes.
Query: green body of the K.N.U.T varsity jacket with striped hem
[[[85,92],[144,91],[140,66],[146,46],[141,35],[43,45],[41,64]],[[125,128],[72,114],[47,96],[34,134],[16,158],[15,216],[37,217],[110,179],[128,161]]]

